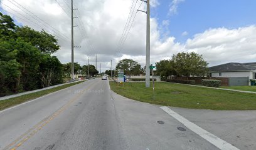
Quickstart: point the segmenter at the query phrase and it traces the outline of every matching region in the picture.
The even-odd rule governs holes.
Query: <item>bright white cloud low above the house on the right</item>
[[[256,59],[256,26],[208,29],[188,39],[186,51],[203,54],[210,66],[228,62],[250,62]]]

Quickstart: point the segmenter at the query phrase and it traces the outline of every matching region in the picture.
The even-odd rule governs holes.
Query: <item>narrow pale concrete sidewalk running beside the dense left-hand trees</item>
[[[72,82],[72,83],[77,83],[79,81],[87,81],[87,79],[85,79],[85,80],[78,80],[78,81],[75,81],[75,82]],[[38,91],[43,91],[43,90],[46,90],[46,89],[56,88],[58,86],[63,86],[63,85],[66,85],[66,84],[70,84],[70,83],[63,83],[63,84],[58,84],[58,85],[55,85],[55,86],[49,86],[49,87],[43,88],[43,89],[36,89],[36,90],[33,90],[33,91],[26,91],[24,93],[18,93],[18,94],[13,94],[13,95],[9,95],[9,96],[3,96],[3,97],[0,98],[0,101],[5,100],[5,99],[10,99],[10,98],[16,98],[16,97],[22,96],[24,94],[36,93]]]

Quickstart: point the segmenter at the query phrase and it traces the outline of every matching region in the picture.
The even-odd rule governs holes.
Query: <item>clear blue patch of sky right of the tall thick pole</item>
[[[161,36],[169,30],[168,36],[176,37],[176,42],[185,42],[210,28],[234,29],[256,24],[255,0],[184,0],[179,2],[176,14],[168,14],[171,2],[159,0],[159,6],[151,9],[151,17],[156,17],[159,24],[168,20],[169,26],[161,29]],[[181,35],[184,31],[187,36]]]

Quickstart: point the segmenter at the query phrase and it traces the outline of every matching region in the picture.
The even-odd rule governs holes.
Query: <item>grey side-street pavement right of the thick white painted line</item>
[[[169,108],[241,150],[256,149],[256,111]]]

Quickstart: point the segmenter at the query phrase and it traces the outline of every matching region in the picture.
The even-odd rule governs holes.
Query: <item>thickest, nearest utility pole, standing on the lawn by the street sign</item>
[[[147,0],[146,88],[150,87],[150,5]]]

